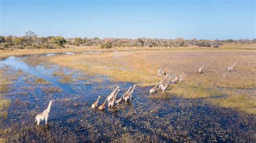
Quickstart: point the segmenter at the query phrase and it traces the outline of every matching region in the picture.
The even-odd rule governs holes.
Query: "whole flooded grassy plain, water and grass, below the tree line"
[[[256,44],[66,47],[0,51],[0,141],[256,141]],[[183,82],[149,94],[165,63]],[[91,108],[134,84],[130,102]],[[36,125],[50,100],[48,124]]]

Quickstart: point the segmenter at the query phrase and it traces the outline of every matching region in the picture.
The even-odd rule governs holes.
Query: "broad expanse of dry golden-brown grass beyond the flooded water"
[[[161,77],[156,76],[157,69],[164,63],[169,63],[166,72],[178,74],[184,71],[185,80],[193,84],[206,87],[253,88],[256,83],[254,56],[254,51],[221,51],[211,48],[209,52],[196,48],[190,51],[173,48],[164,51],[58,55],[51,57],[50,61],[65,67],[84,69],[91,74],[107,75],[116,81],[136,82],[143,86],[158,82]],[[233,65],[234,62],[238,62],[234,71],[227,73],[225,67]],[[206,65],[203,69],[205,73],[199,75],[198,69],[203,64]]]

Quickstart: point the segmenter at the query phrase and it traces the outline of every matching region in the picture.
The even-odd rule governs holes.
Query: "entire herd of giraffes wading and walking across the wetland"
[[[228,72],[233,71],[233,68],[234,68],[235,64],[237,64],[237,62],[235,62],[234,65],[232,65],[231,67],[227,67],[226,68],[227,71]],[[168,63],[165,63],[165,65],[161,66],[157,70],[157,76],[165,75],[164,68],[167,65],[168,65]],[[205,65],[203,65],[202,67],[199,68],[199,74],[203,74],[204,66]],[[169,87],[170,82],[171,82],[171,85],[174,84],[174,83],[177,83],[177,82],[183,82],[185,75],[186,74],[183,72],[182,75],[180,75],[179,77],[178,77],[178,75],[176,75],[174,77],[174,80],[172,80],[172,77],[171,77],[172,73],[166,74],[165,77],[162,80],[160,80],[159,83],[156,84],[156,86],[154,86],[153,88],[150,89],[149,94],[154,94],[157,90],[157,87],[158,87],[158,90],[161,89],[164,92]],[[109,108],[113,108],[114,106],[118,106],[122,101],[131,102],[132,101],[132,93],[133,93],[135,87],[136,87],[136,84],[134,84],[133,87],[130,87],[119,99],[116,99],[117,94],[120,91],[120,87],[117,87],[116,89],[114,89],[111,92],[111,94],[109,96],[107,96],[105,101],[102,104],[100,104],[99,106],[98,106],[98,103],[99,103],[99,99],[101,98],[101,96],[98,96],[97,101],[91,105],[91,108],[98,108],[99,110],[104,110],[106,102],[108,102]],[[48,107],[42,113],[38,113],[38,115],[36,115],[37,125],[39,125],[40,121],[44,120],[44,119],[45,119],[45,124],[47,124],[47,120],[48,120],[48,117],[49,117],[49,112],[50,112],[50,109],[51,109],[52,102],[53,101],[50,101]]]

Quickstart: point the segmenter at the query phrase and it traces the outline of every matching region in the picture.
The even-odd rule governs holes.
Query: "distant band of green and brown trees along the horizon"
[[[137,39],[125,39],[125,38],[63,38],[61,36],[53,37],[38,37],[34,32],[28,31],[22,37],[16,36],[0,36],[0,49],[8,48],[61,48],[67,45],[77,46],[100,46],[101,48],[112,47],[185,47],[185,46],[200,46],[200,47],[219,47],[224,43],[240,43],[240,44],[252,44],[256,39],[226,39],[226,40],[197,40],[196,38],[186,40],[183,38],[177,39],[157,39],[157,38],[137,38]]]

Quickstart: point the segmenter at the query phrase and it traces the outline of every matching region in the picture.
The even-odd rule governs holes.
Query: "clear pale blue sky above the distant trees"
[[[0,35],[255,38],[254,0],[0,1]]]

